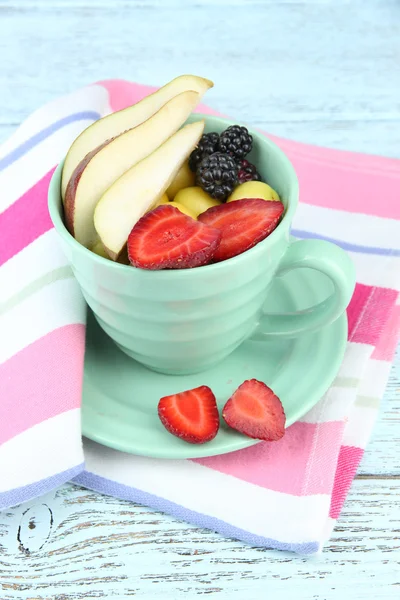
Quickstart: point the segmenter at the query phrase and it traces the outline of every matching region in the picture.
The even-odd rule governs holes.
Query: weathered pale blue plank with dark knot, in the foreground
[[[398,598],[399,493],[399,479],[356,481],[325,552],[305,558],[64,486],[0,515],[1,598]]]

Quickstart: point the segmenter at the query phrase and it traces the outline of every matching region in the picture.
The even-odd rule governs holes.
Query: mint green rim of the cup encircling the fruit
[[[213,120],[213,121],[217,121],[218,123],[222,123],[227,126],[245,125],[243,123],[238,123],[237,120],[232,121],[231,119],[226,119],[224,117],[218,117],[218,116],[214,116],[214,115],[210,115],[210,114],[203,114],[203,113],[197,113],[197,112],[192,113],[192,115],[190,115],[189,119],[190,119],[190,121],[193,121],[193,120],[195,120],[196,117],[198,117],[199,120],[204,119],[206,121],[206,123],[207,123],[207,121]],[[186,277],[187,277],[188,272],[191,273],[192,275],[195,273],[205,273],[206,271],[209,273],[209,272],[215,271],[217,269],[221,270],[224,267],[225,268],[234,267],[235,265],[239,265],[241,262],[245,261],[250,256],[256,256],[257,253],[263,252],[267,246],[272,246],[272,244],[275,242],[275,240],[277,240],[277,238],[280,235],[282,235],[283,228],[285,228],[287,231],[289,230],[294,213],[295,213],[297,205],[298,205],[298,201],[299,201],[298,200],[298,198],[299,198],[299,182],[298,182],[296,171],[295,171],[291,161],[289,160],[288,156],[285,154],[285,152],[283,152],[283,150],[281,150],[279,148],[279,146],[277,146],[272,140],[270,140],[268,137],[266,137],[261,132],[258,132],[257,130],[252,129],[252,128],[248,127],[247,125],[245,125],[245,126],[247,127],[247,129],[249,130],[249,132],[251,133],[253,138],[255,138],[257,140],[257,142],[260,146],[267,146],[269,148],[269,150],[274,152],[274,154],[279,157],[279,160],[285,164],[286,169],[289,171],[289,176],[292,178],[291,190],[290,190],[290,194],[288,197],[288,206],[284,212],[281,222],[279,223],[278,227],[276,229],[274,229],[274,231],[267,238],[265,238],[264,240],[262,240],[261,242],[259,242],[255,246],[253,246],[253,248],[250,248],[249,250],[242,252],[242,254],[233,256],[232,258],[229,258],[225,261],[213,263],[210,265],[203,265],[200,267],[196,267],[194,269],[146,270],[146,269],[139,269],[137,267],[133,267],[132,265],[124,265],[124,264],[121,264],[118,262],[111,261],[107,258],[103,258],[102,256],[99,256],[95,252],[92,252],[91,250],[89,250],[88,248],[86,248],[85,246],[83,246],[82,244],[77,242],[76,239],[70,234],[70,232],[68,231],[68,229],[65,226],[64,219],[62,217],[62,212],[63,212],[62,206],[63,205],[62,205],[62,201],[61,201],[61,197],[60,197],[60,189],[59,189],[59,185],[57,185],[57,179],[61,175],[65,157],[60,161],[60,163],[54,170],[54,173],[50,180],[49,189],[48,189],[48,210],[49,210],[50,218],[54,225],[55,230],[68,245],[75,248],[81,254],[88,256],[88,258],[90,258],[95,263],[102,264],[103,266],[107,266],[114,270],[122,269],[125,272],[127,272],[126,270],[129,270],[131,272],[132,272],[132,270],[134,270],[134,272],[139,271],[142,275],[147,276],[147,277],[149,277],[149,276],[160,277],[160,278],[161,277],[164,277],[164,278],[165,277],[168,277],[168,278],[182,277],[185,275],[185,273],[186,273]]]

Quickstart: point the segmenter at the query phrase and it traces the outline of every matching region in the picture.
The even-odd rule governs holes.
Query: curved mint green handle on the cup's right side
[[[263,314],[250,336],[265,340],[269,336],[295,337],[329,325],[346,310],[355,286],[355,268],[344,250],[322,240],[302,240],[290,244],[276,276],[301,268],[315,269],[327,275],[334,291],[329,298],[297,313]]]

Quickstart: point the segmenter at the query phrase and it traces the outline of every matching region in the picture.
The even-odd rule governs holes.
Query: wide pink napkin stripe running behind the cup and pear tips
[[[99,83],[107,88],[113,110],[125,108],[156,89],[121,80]],[[218,114],[204,106],[199,110]],[[400,219],[400,161],[320,148],[266,135],[293,162],[303,192],[302,202]]]

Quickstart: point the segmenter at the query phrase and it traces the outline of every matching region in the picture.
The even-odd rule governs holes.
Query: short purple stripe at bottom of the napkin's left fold
[[[32,498],[43,496],[43,494],[47,494],[47,492],[54,490],[63,483],[73,479],[73,477],[76,477],[79,473],[82,473],[84,468],[85,464],[82,463],[76,467],[62,471],[62,473],[57,473],[56,475],[46,477],[46,479],[35,481],[35,483],[14,488],[13,490],[8,490],[7,492],[1,492],[0,510],[10,508],[11,506],[16,506],[17,504],[21,504],[27,500],[32,500]]]

